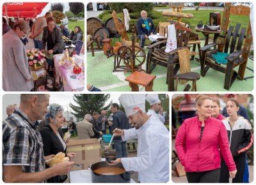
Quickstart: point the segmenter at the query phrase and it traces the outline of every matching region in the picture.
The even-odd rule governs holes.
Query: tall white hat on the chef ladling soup
[[[136,114],[139,110],[146,112],[145,94],[122,94],[118,100],[124,107],[127,117]]]

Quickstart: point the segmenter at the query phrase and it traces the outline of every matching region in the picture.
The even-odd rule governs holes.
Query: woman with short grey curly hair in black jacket
[[[55,155],[58,152],[66,153],[68,141],[63,140],[63,132],[61,131],[64,124],[63,108],[55,103],[49,105],[45,120],[47,124],[40,130],[44,143],[44,156]],[[76,156],[76,153],[70,152],[66,156],[71,160]],[[66,179],[67,175],[58,175],[48,179],[47,182],[65,182]]]

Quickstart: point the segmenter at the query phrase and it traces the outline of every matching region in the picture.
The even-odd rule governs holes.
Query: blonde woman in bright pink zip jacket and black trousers
[[[188,182],[218,182],[220,152],[230,178],[234,178],[237,172],[228,145],[227,130],[220,120],[211,117],[212,108],[209,96],[196,96],[198,115],[186,119],[177,133],[175,148]]]

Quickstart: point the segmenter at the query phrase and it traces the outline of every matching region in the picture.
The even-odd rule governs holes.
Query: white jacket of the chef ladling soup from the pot
[[[138,181],[169,181],[169,131],[154,116],[140,129],[125,129],[123,140],[138,138],[137,157],[121,158],[126,171],[138,172]]]

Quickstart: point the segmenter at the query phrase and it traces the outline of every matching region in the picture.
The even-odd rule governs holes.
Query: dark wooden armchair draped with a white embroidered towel
[[[182,26],[182,24],[180,24],[179,22],[175,23],[175,29],[177,38],[177,49],[172,50],[168,53],[164,52],[167,41],[166,39],[157,41],[156,43],[147,47],[149,49],[147,54],[147,73],[151,73],[156,65],[164,66],[167,68],[169,56],[173,54],[175,56],[175,74],[179,70],[179,57],[177,55],[177,51],[188,47],[189,34],[191,32],[191,29]]]

